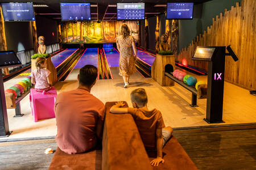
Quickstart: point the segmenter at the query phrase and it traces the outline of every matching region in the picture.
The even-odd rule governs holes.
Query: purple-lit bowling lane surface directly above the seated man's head
[[[75,69],[81,69],[85,65],[98,67],[98,48],[88,48],[77,62]]]

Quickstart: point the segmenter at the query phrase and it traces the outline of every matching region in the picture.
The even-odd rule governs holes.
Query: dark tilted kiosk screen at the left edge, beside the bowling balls
[[[0,68],[13,67],[20,64],[19,58],[14,51],[0,52]]]

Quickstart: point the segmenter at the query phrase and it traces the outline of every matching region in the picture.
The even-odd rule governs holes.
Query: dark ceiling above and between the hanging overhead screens
[[[1,2],[33,2],[34,5],[47,5],[49,7],[34,7],[35,14],[51,18],[54,20],[61,20],[60,15],[60,2],[90,2],[91,4],[91,18],[92,20],[116,20],[117,7],[111,5],[116,5],[116,3],[135,3],[135,2],[144,2],[145,3],[145,16],[150,18],[162,12],[166,11],[165,6],[155,7],[155,5],[166,5],[167,2],[194,2],[195,4],[207,2],[210,0],[144,0],[144,1],[134,1],[134,0],[88,0],[88,1],[77,1],[77,0],[1,0]],[[94,5],[94,6],[92,6]],[[109,6],[110,5],[110,6]],[[98,12],[97,12],[98,11]]]

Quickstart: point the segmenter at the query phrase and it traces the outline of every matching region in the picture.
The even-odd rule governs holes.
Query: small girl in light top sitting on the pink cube
[[[31,71],[31,82],[35,84],[35,90],[38,92],[51,90],[49,74],[51,71],[46,69],[46,58],[36,58],[36,70]]]

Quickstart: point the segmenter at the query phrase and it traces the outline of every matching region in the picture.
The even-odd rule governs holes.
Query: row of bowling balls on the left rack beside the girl
[[[24,91],[27,91],[32,86],[31,83],[31,75],[27,76],[26,78],[22,79],[17,84],[14,84],[14,86],[11,86],[7,90],[5,90],[5,94],[13,93],[15,99],[22,95]]]

